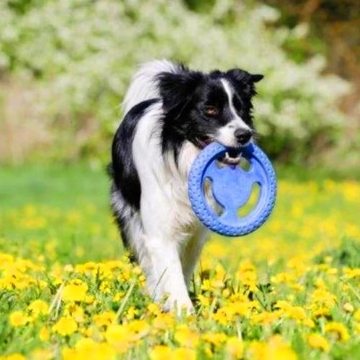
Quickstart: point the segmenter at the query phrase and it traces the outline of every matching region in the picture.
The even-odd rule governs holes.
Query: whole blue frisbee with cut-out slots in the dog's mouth
[[[258,229],[270,216],[276,200],[276,177],[270,160],[255,144],[238,149],[249,161],[249,170],[237,165],[220,166],[219,160],[228,150],[213,142],[199,153],[189,174],[189,198],[206,227],[221,235],[242,236]],[[207,179],[214,200],[223,209],[220,215],[208,204],[204,189]],[[260,186],[258,201],[249,214],[240,217],[239,209],[248,202],[254,184]]]

